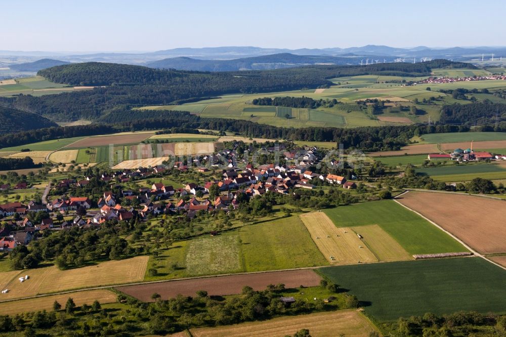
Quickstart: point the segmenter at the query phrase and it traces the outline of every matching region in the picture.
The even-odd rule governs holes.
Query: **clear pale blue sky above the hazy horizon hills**
[[[5,0],[0,11],[0,50],[506,45],[504,0]]]

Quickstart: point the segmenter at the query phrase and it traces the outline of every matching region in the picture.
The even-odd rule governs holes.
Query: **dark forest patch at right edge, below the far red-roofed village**
[[[444,105],[441,109],[442,123],[462,125],[497,125],[506,128],[506,104],[474,103]]]

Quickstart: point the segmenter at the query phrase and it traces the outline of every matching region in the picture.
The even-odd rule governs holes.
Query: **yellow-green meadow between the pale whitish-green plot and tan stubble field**
[[[243,226],[238,232],[248,272],[327,265],[297,216]]]

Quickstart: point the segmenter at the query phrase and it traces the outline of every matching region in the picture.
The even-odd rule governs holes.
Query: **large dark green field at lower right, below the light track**
[[[426,312],[506,313],[506,271],[481,258],[326,267],[319,272],[349,289],[379,321]]]

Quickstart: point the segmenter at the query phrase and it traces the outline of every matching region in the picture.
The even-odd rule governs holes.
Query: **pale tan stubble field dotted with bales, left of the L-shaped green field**
[[[337,228],[325,213],[306,213],[301,215],[301,220],[330,264],[348,265],[378,261],[351,228]]]

